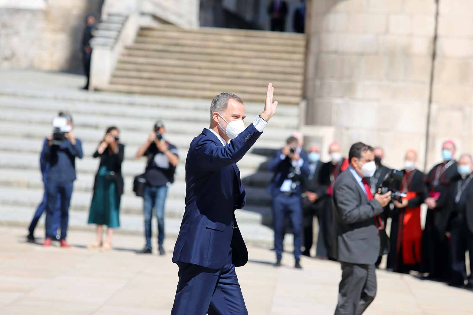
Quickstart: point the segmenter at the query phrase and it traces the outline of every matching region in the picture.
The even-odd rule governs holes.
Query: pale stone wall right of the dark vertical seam
[[[457,143],[457,156],[473,152],[473,1],[440,0],[438,9],[429,165],[449,138]]]

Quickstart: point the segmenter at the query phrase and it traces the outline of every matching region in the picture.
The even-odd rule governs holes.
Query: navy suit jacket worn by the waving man
[[[248,251],[235,219],[246,196],[235,163],[261,134],[252,123],[226,146],[208,129],[193,139],[185,161],[185,211],[173,263],[220,269],[231,248],[235,266],[246,264]]]

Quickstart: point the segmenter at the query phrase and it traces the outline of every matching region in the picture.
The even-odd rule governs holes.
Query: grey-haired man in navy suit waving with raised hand
[[[246,201],[236,166],[276,113],[270,83],[264,111],[245,129],[240,97],[221,93],[210,105],[210,127],[195,137],[185,162],[185,211],[174,247],[179,266],[171,315],[246,315],[235,267],[248,251],[235,219]]]

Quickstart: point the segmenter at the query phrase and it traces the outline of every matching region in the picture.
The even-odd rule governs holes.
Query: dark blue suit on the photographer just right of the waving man
[[[294,258],[298,260],[302,246],[302,189],[299,184],[290,192],[281,192],[282,184],[288,179],[289,174],[294,171],[291,159],[289,157],[281,159],[281,155],[281,150],[278,150],[268,165],[268,170],[275,172],[268,187],[268,192],[272,195],[274,248],[276,250],[277,259],[281,259],[282,243],[284,240],[284,218],[288,215],[294,234]],[[300,167],[300,175],[302,177],[308,177],[310,170],[307,155],[301,153],[300,156],[304,161]]]

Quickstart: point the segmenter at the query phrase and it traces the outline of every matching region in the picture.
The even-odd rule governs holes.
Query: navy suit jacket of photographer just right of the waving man
[[[272,196],[277,196],[281,193],[280,188],[282,183],[288,179],[288,175],[290,172],[293,171],[294,167],[291,164],[290,157],[286,157],[285,159],[281,160],[282,150],[278,150],[276,155],[272,158],[272,160],[268,164],[268,170],[275,172],[274,176],[272,177],[271,183],[268,186],[268,193]],[[305,179],[309,177],[310,170],[309,170],[309,162],[307,158],[307,154],[301,152],[300,157],[304,160],[300,168],[301,175],[303,176],[303,180],[301,180],[301,184],[304,183]],[[296,193],[299,195],[302,194],[301,185],[298,185],[296,189]]]

